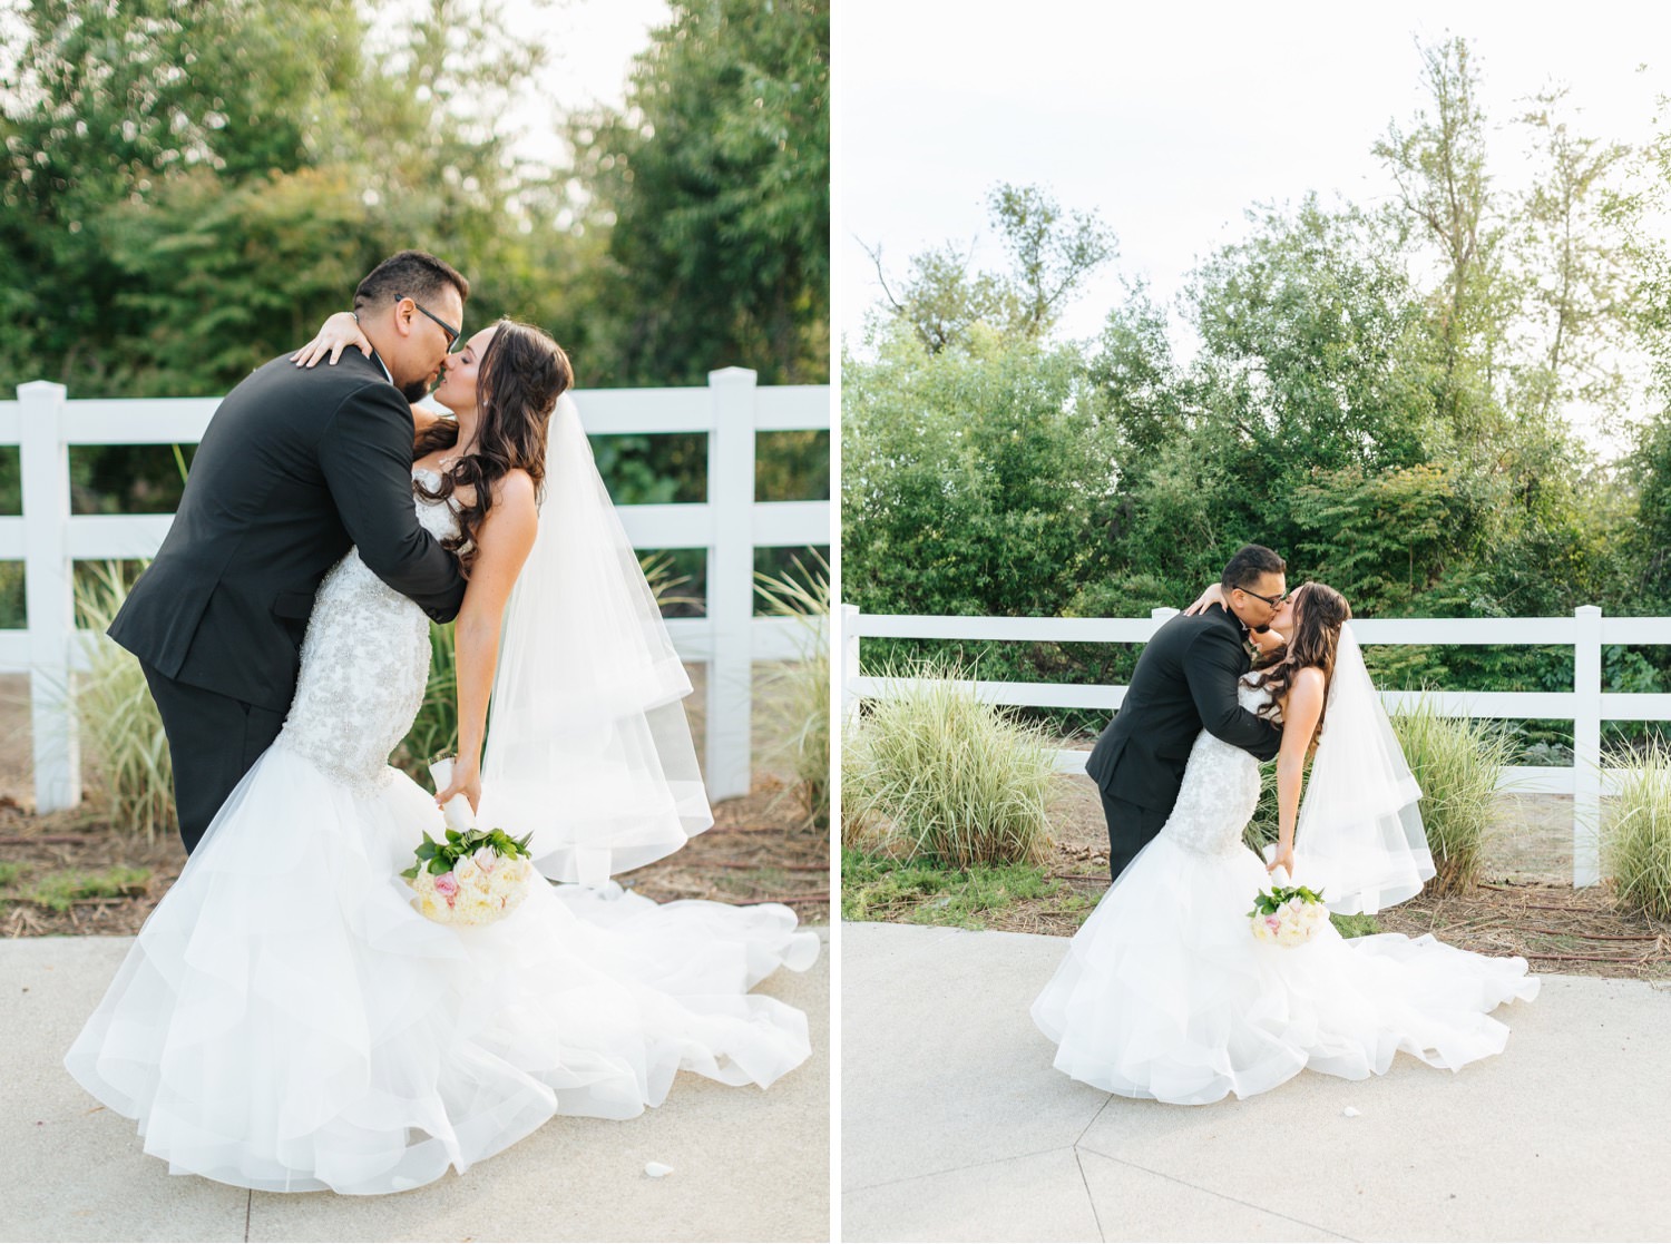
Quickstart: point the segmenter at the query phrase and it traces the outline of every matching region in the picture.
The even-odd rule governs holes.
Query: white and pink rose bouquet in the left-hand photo
[[[436,788],[444,788],[453,763],[429,766]],[[441,925],[490,925],[516,910],[528,895],[533,863],[528,838],[511,838],[505,830],[478,830],[470,802],[455,795],[443,808],[446,840],[428,830],[416,848],[418,863],[401,873],[418,895],[418,912]]]

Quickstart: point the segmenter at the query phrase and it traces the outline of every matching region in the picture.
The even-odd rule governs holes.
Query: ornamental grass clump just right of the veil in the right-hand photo
[[[1435,893],[1460,893],[1479,878],[1497,778],[1514,743],[1489,721],[1440,716],[1425,696],[1392,718],[1392,730],[1422,786],[1422,825],[1437,873]]]

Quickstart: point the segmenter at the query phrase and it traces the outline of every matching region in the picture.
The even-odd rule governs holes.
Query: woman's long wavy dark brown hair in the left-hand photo
[[[458,554],[468,576],[476,559],[476,533],[493,508],[493,486],[510,471],[521,468],[533,476],[535,494],[545,491],[545,436],[551,411],[563,391],[575,382],[575,371],[563,347],[533,324],[501,319],[476,369],[476,446],[441,473],[441,486],[431,489],[421,479],[418,491],[429,501],[444,501],[461,488],[475,488],[476,496],[458,511],[458,534],[443,539]],[[458,424],[438,419],[416,441],[413,456],[458,444]]]

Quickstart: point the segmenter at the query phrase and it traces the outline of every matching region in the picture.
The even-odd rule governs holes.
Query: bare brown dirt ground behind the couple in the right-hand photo
[[[1056,778],[1044,870],[1051,898],[1019,900],[991,928],[1069,937],[1084,900],[1108,888],[1108,827],[1096,786]],[[1621,912],[1606,885],[1572,888],[1572,796],[1499,795],[1481,885],[1460,897],[1420,895],[1377,917],[1382,932],[1434,933],[1491,955],[1524,955],[1532,970],[1671,980],[1671,923]]]

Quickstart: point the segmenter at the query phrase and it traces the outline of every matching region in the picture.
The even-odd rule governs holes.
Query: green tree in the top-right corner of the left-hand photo
[[[829,377],[829,0],[675,0],[627,107],[573,119],[610,237],[608,382]]]

